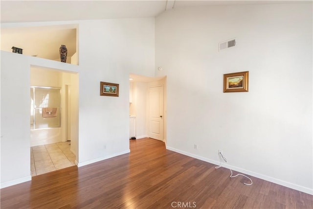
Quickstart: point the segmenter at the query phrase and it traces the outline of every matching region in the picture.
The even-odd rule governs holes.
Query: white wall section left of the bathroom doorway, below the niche
[[[1,51],[1,187],[31,179],[27,64],[25,56]]]

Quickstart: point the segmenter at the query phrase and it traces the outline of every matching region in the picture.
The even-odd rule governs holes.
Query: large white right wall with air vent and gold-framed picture
[[[167,75],[168,149],[216,164],[222,149],[225,166],[313,193],[312,2],[167,11],[156,66]],[[223,93],[223,74],[246,70],[249,92]]]

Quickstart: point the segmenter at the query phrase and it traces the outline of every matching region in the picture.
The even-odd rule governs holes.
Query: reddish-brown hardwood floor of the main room
[[[313,196],[165,149],[130,141],[131,153],[34,176],[1,189],[1,209],[312,209]],[[235,173],[234,173],[235,174]]]

